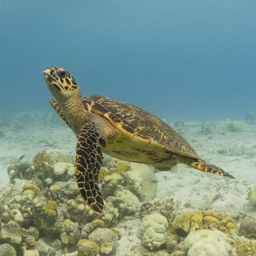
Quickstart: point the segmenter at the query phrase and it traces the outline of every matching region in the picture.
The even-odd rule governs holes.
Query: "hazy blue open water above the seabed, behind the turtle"
[[[254,0],[1,0],[0,112],[50,109],[42,70],[160,118],[256,111]]]

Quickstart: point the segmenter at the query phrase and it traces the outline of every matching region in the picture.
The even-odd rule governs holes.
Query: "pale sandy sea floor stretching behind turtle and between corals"
[[[226,179],[182,164],[167,172],[157,172],[156,200],[173,198],[178,202],[176,214],[198,208],[231,214],[253,210],[246,197],[248,185],[256,184],[256,125],[244,124],[241,131],[223,132],[216,128],[216,124],[218,122],[185,122],[185,126],[177,128],[170,123],[198,156],[236,178]],[[75,154],[76,136],[52,114],[26,113],[0,122],[0,131],[3,132],[0,138],[0,187],[9,182],[6,160],[26,154],[23,161],[32,163],[35,154],[49,149]],[[122,249],[116,255],[122,255],[129,251],[130,245],[139,242],[136,220],[127,221],[125,225],[130,226],[130,233],[122,236],[119,241]]]

